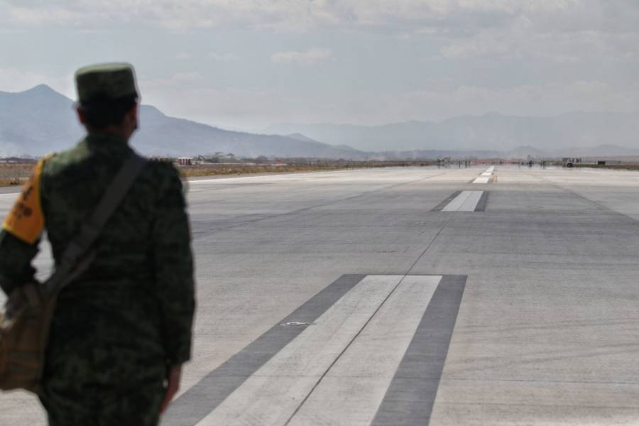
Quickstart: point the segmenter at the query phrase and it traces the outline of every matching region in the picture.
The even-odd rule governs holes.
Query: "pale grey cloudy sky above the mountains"
[[[136,67],[226,129],[639,111],[638,0],[0,0],[0,91]]]

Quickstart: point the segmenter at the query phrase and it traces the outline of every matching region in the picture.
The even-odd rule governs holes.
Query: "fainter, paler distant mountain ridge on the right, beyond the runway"
[[[361,151],[500,151],[525,146],[556,152],[571,147],[639,149],[639,113],[572,112],[552,117],[503,114],[407,121],[384,126],[275,124],[271,133],[303,133],[318,141]],[[613,148],[616,149],[616,148]]]

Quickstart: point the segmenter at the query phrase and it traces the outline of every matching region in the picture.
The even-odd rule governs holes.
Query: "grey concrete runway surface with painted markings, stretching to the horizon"
[[[165,426],[639,425],[639,173],[224,178],[189,203],[194,358]],[[0,424],[45,421],[18,392]]]

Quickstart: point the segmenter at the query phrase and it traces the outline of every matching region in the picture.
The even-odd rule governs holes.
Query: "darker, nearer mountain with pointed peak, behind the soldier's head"
[[[25,92],[0,92],[0,157],[61,151],[84,134],[71,99],[41,84]],[[133,146],[146,155],[190,156],[215,152],[256,157],[355,158],[350,147],[297,137],[256,135],[165,116],[143,105]]]

